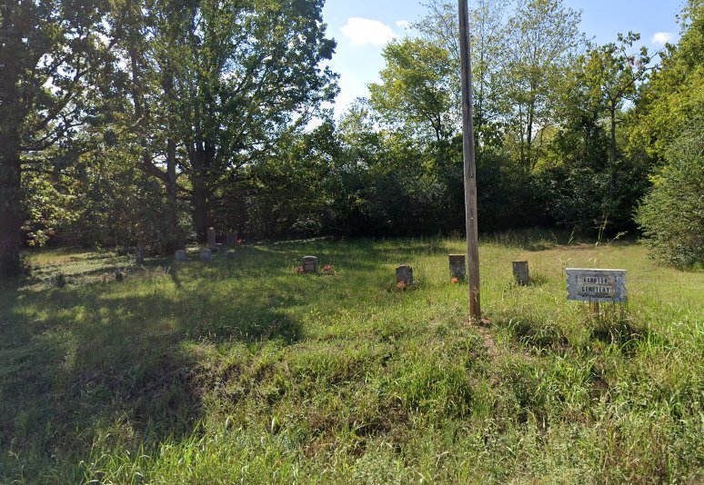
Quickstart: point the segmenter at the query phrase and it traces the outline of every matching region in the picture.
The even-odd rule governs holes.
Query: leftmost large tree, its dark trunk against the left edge
[[[22,172],[80,151],[113,38],[102,0],[6,0],[0,5],[0,274],[20,271]],[[117,21],[119,25],[119,20]]]

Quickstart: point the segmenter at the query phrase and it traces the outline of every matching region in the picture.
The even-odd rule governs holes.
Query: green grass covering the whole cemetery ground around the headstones
[[[31,254],[35,277],[0,288],[0,482],[704,480],[704,273],[638,243],[485,238],[478,327],[449,282],[463,251]],[[337,274],[297,275],[307,254]],[[416,289],[397,290],[400,263]],[[567,302],[565,267],[626,269],[628,305]]]

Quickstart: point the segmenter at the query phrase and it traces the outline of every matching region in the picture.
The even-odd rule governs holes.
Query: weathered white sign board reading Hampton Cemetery
[[[568,300],[575,302],[625,302],[626,270],[567,268]]]

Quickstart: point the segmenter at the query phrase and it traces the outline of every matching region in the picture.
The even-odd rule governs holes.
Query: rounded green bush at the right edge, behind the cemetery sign
[[[704,263],[704,117],[691,121],[653,177],[636,220],[652,254],[678,266]]]

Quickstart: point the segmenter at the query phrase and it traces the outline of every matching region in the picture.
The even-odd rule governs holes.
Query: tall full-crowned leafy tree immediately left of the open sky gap
[[[188,10],[174,92],[185,153],[179,163],[190,180],[199,238],[223,202],[216,187],[242,183],[247,165],[264,160],[337,94],[336,75],[321,67],[335,48],[325,37],[322,6],[200,0]]]

